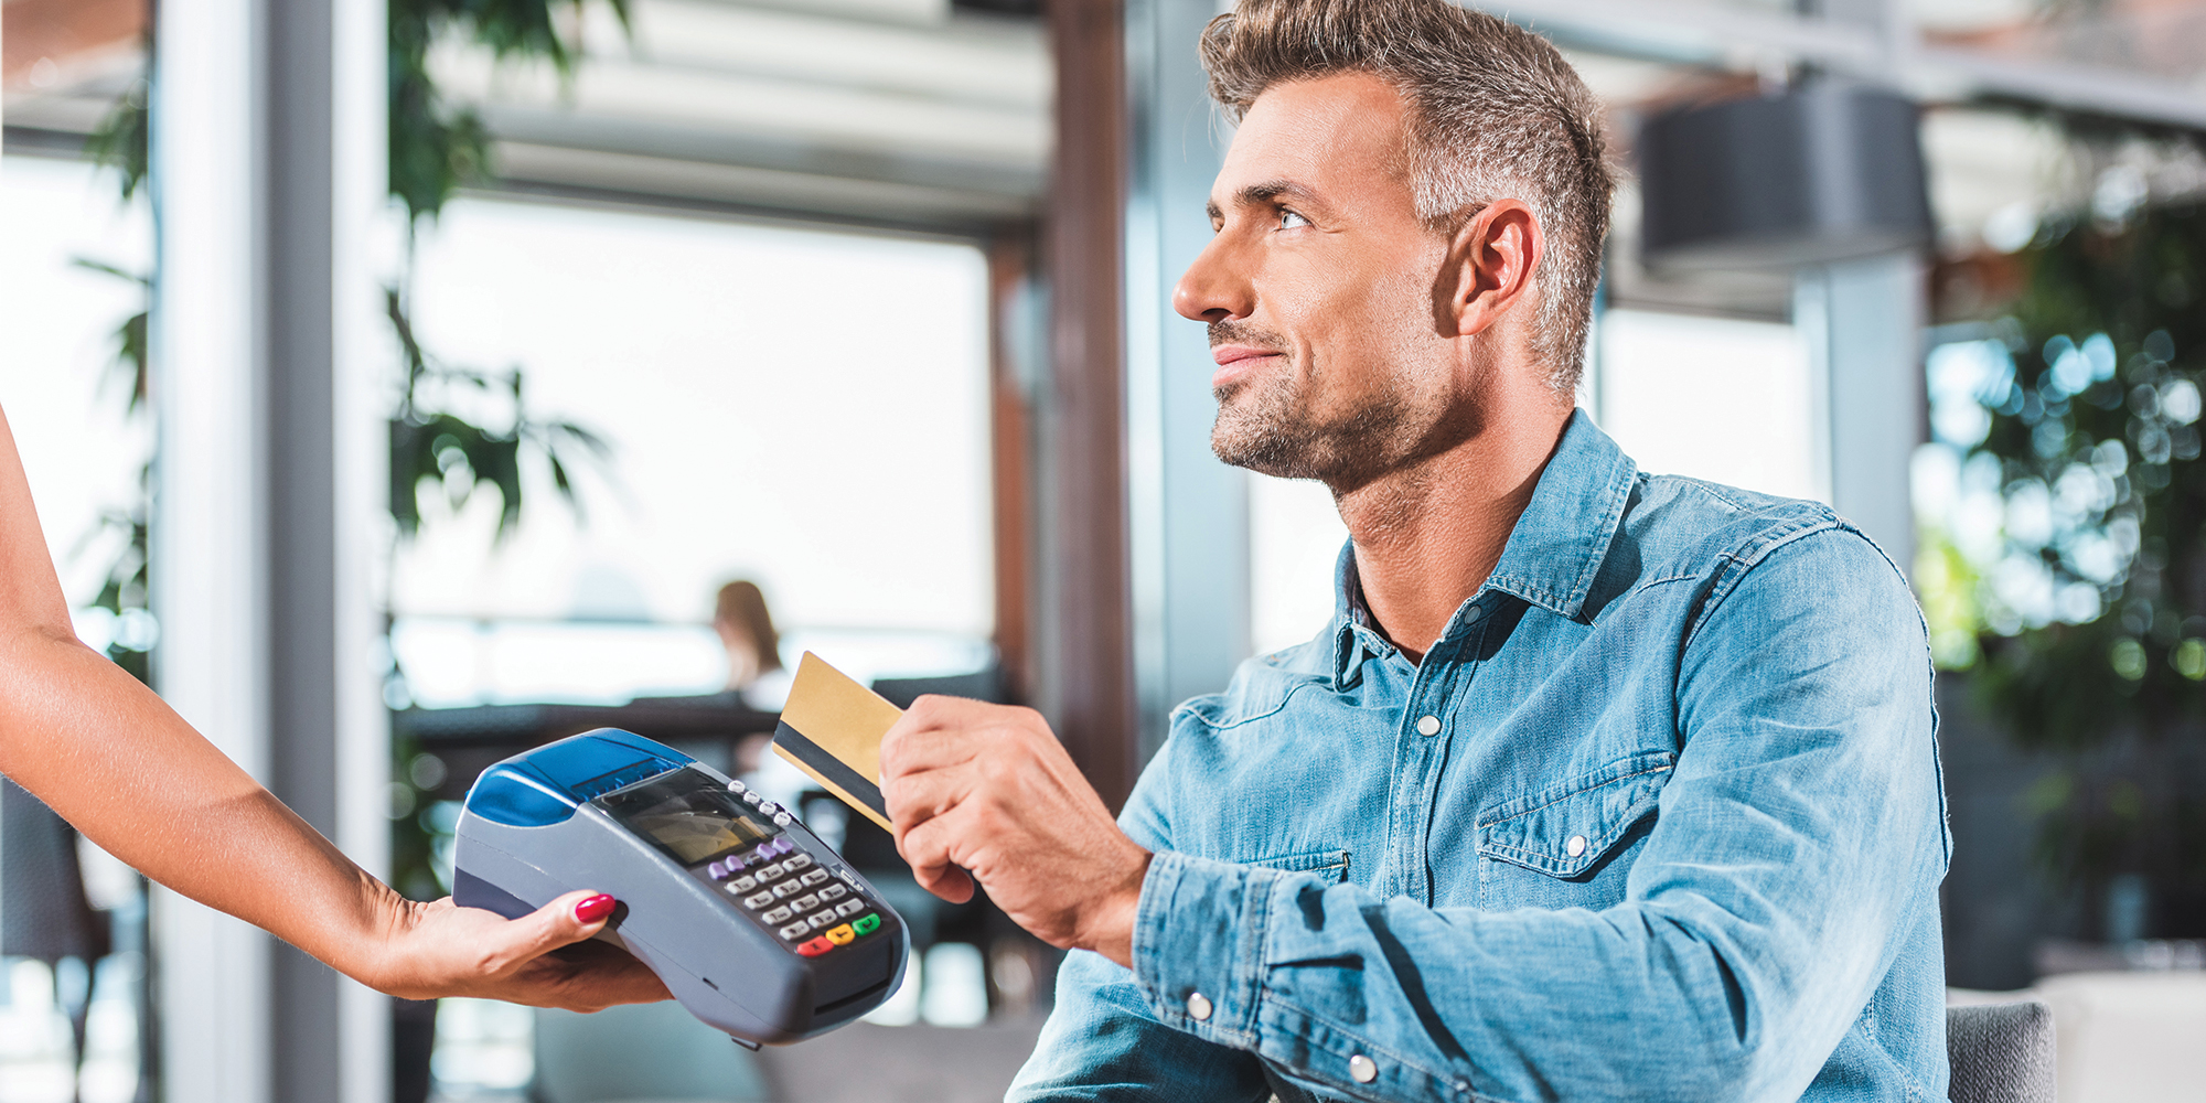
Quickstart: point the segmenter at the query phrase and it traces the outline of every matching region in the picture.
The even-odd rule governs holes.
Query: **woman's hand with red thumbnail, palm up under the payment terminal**
[[[450,896],[401,900],[373,986],[410,999],[472,995],[567,1010],[666,999],[642,962],[591,940],[613,907],[611,896],[574,891],[507,920]]]

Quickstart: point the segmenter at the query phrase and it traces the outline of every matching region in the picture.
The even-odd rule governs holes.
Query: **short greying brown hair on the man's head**
[[[1544,38],[1447,0],[1240,0],[1202,31],[1202,68],[1233,119],[1273,84],[1372,73],[1410,101],[1410,179],[1427,227],[1502,196],[1546,232],[1533,349],[1577,390],[1615,174],[1602,104]]]

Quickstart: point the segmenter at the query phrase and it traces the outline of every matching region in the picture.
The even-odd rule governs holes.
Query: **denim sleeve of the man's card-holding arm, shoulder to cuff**
[[[1928,644],[1851,529],[1725,571],[1688,629],[1683,746],[1621,904],[1432,909],[1158,854],[1134,968],[1068,964],[1072,1017],[1046,1039],[1050,1083],[1127,1092],[1030,1096],[1235,1099],[1231,1050],[1348,1099],[1798,1099],[1937,907]]]

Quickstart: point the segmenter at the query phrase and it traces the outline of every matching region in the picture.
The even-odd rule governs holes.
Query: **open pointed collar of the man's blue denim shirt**
[[[1498,589],[1575,620],[1624,523],[1637,476],[1639,465],[1617,441],[1575,410],[1480,593]],[[1363,607],[1354,543],[1341,547],[1332,591],[1332,679],[1346,686],[1366,653],[1385,655],[1394,646],[1379,635]]]

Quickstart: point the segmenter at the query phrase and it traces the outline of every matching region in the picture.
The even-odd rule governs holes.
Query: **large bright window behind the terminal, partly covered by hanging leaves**
[[[494,494],[457,514],[424,496],[390,578],[413,699],[708,693],[726,666],[704,622],[730,578],[765,589],[783,651],[832,638],[856,677],[984,662],[984,296],[982,254],[942,240],[448,207],[421,238],[424,344],[521,366],[529,415],[600,432],[613,459],[580,476],[582,518],[525,461],[503,545]]]

